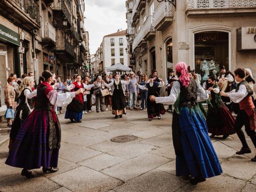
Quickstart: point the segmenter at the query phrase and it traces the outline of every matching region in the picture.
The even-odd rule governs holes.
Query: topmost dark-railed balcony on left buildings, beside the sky
[[[54,2],[51,4],[51,9],[55,12],[62,12],[63,15],[66,17],[66,19],[68,20],[69,24],[72,25],[71,13],[69,12],[71,5],[69,6],[69,3],[70,3],[69,1],[64,1],[64,0],[54,0]],[[62,18],[62,14],[59,14],[55,17]]]

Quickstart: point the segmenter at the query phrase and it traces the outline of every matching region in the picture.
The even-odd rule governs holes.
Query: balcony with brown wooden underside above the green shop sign
[[[27,30],[40,29],[39,6],[34,0],[2,0],[1,15]]]

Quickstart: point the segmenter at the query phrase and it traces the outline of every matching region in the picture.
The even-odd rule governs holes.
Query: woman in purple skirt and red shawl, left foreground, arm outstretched
[[[46,70],[42,77],[44,81],[37,87],[35,110],[22,124],[6,160],[8,165],[23,168],[21,174],[27,178],[33,177],[31,169],[41,166],[43,172],[58,170],[60,124],[54,109],[69,104],[84,91],[80,88],[59,94],[50,85],[55,80],[54,72]]]

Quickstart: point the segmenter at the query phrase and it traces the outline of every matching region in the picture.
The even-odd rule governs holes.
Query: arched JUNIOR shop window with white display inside
[[[228,33],[207,31],[195,34],[195,70],[202,77],[201,82],[209,75],[219,75],[220,67],[229,70]]]

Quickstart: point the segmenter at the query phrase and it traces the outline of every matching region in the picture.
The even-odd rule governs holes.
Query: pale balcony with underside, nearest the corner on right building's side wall
[[[173,6],[167,2],[161,2],[155,9],[153,27],[156,31],[161,31],[173,21]]]

